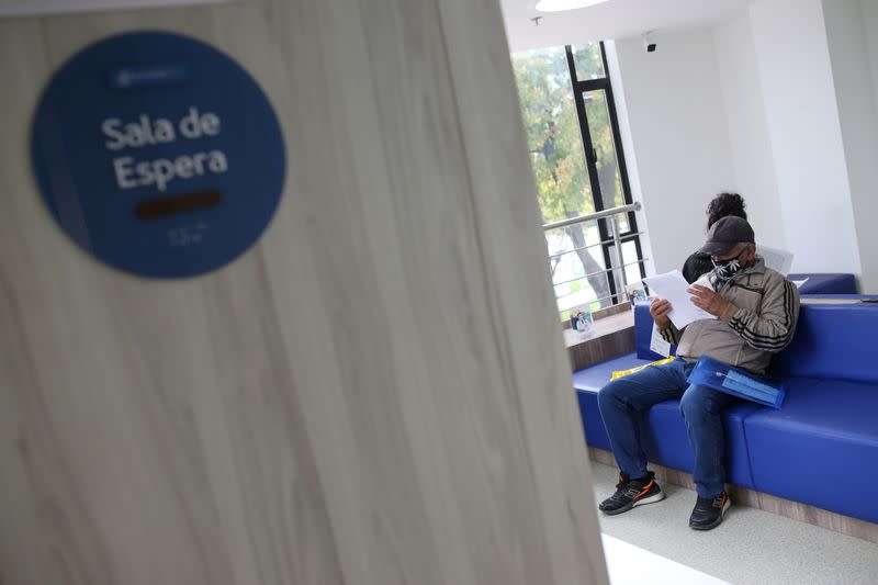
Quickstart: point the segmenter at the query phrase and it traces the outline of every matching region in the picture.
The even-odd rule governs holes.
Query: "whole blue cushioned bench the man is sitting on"
[[[649,306],[635,311],[638,351],[574,373],[588,445],[609,449],[597,392],[616,370],[649,363]],[[779,410],[742,402],[723,413],[729,482],[878,522],[878,305],[802,305],[799,329],[772,365],[787,391]],[[640,353],[640,357],[639,357]],[[679,401],[641,420],[650,461],[691,473]]]

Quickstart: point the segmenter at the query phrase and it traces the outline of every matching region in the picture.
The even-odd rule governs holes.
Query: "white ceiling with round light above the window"
[[[500,0],[509,48],[635,36],[646,31],[709,26],[743,11],[751,0],[609,0],[566,12],[537,12],[537,0]],[[530,19],[542,16],[539,26]]]

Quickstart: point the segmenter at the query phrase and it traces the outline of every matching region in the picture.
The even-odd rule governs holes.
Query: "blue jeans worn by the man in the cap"
[[[693,480],[701,497],[714,497],[725,485],[722,409],[739,398],[686,382],[695,362],[677,358],[614,380],[597,395],[619,469],[629,477],[646,474],[646,455],[640,445],[640,420],[653,404],[680,398],[689,443],[695,451]]]

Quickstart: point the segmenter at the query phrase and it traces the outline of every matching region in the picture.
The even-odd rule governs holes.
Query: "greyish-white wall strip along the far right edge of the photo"
[[[868,4],[871,20],[865,19],[860,0],[823,1],[835,98],[838,103],[842,142],[851,185],[851,203],[863,263],[864,291],[878,291],[878,102],[874,76],[876,63],[870,58],[876,49],[878,5]],[[864,23],[873,23],[867,27]],[[875,54],[873,54],[875,56]],[[871,63],[870,63],[871,61]]]

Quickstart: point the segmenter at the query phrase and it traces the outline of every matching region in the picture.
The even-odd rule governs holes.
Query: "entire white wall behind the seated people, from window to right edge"
[[[732,190],[795,271],[853,272],[878,291],[878,2],[755,0],[657,40],[653,54],[640,37],[609,54],[655,270],[697,246],[707,201]]]

